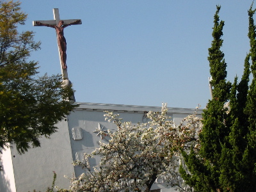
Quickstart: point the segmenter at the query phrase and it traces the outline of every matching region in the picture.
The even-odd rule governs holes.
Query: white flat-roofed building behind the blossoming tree
[[[62,120],[57,126],[58,132],[51,139],[42,138],[41,147],[31,148],[25,154],[19,155],[16,148],[8,148],[3,152],[3,172],[0,172],[0,191],[27,192],[46,191],[53,180],[53,171],[57,174],[56,186],[68,188],[67,178],[80,175],[83,170],[73,166],[72,162],[80,158],[83,152],[90,153],[98,146],[100,135],[97,128],[115,129],[115,124],[104,120],[104,111],[115,111],[124,121],[132,123],[145,121],[148,111],[161,111],[161,108],[147,106],[125,106],[116,104],[80,103],[80,106]],[[176,123],[193,113],[195,109],[169,108],[168,115]],[[198,111],[198,115],[202,110]],[[72,132],[73,130],[73,132]],[[93,164],[97,164],[95,159]],[[161,189],[162,188],[162,189]],[[157,191],[173,191],[164,189],[161,184],[154,184]]]

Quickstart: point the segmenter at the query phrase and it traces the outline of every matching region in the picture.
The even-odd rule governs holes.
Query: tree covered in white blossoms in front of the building
[[[164,180],[180,191],[186,191],[179,177],[179,148],[184,143],[196,141],[196,129],[191,122],[196,116],[184,119],[185,123],[175,126],[166,115],[166,104],[161,113],[150,111],[148,122],[132,125],[121,122],[119,115],[107,111],[108,122],[116,124],[115,132],[104,132],[108,142],[100,141],[99,148],[92,154],[84,154],[85,162],[76,161],[84,173],[71,179],[71,191],[150,191],[152,184]],[[200,122],[199,118],[195,118]],[[195,120],[194,119],[194,120]],[[195,121],[194,121],[195,122]],[[197,124],[196,122],[195,124]],[[195,128],[196,126],[194,126]],[[98,166],[90,167],[88,158],[100,156]]]

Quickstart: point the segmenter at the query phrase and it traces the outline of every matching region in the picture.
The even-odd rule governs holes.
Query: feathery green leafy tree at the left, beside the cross
[[[36,76],[38,63],[28,58],[40,42],[32,31],[17,29],[26,17],[19,2],[0,1],[0,149],[14,143],[19,153],[39,147],[39,138],[56,132],[55,124],[76,106],[61,76]]]

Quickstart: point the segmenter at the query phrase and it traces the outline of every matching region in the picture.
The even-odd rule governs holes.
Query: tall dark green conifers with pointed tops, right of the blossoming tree
[[[250,53],[244,60],[241,81],[226,81],[227,64],[220,51],[224,22],[214,15],[209,65],[212,100],[203,114],[201,148],[182,152],[186,166],[180,173],[195,191],[255,191],[256,189],[256,27],[248,11]],[[250,61],[252,62],[250,65]],[[252,73],[252,83],[248,85]],[[226,104],[228,103],[228,106]]]

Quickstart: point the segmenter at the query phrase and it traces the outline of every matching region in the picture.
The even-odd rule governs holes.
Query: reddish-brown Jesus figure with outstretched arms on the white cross
[[[61,65],[62,68],[67,68],[67,42],[64,36],[64,28],[67,28],[67,26],[71,26],[74,24],[79,24],[81,20],[76,20],[74,22],[70,22],[69,24],[64,24],[63,20],[60,20],[58,25],[51,25],[51,24],[44,24],[42,22],[36,21],[36,25],[38,26],[46,26],[49,28],[54,28],[56,30],[57,39],[58,39],[58,46],[60,48],[60,58],[61,58]]]

